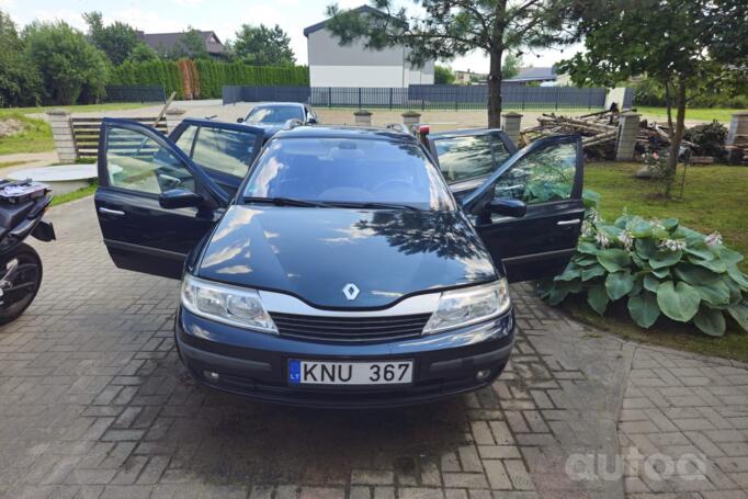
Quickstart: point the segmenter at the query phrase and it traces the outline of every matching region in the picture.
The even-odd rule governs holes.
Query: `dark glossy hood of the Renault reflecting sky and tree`
[[[258,205],[227,211],[195,273],[322,308],[386,307],[409,294],[497,277],[460,212]],[[352,300],[342,291],[349,283],[360,290]]]

